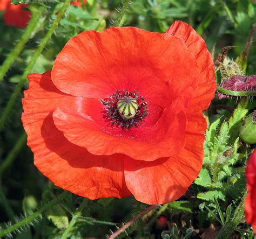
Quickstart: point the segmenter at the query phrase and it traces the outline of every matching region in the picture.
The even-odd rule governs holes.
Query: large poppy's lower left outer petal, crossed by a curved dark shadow
[[[124,181],[124,155],[95,156],[70,143],[53,120],[52,111],[76,100],[52,84],[51,73],[29,76],[22,121],[34,163],[56,186],[89,199],[131,195]]]

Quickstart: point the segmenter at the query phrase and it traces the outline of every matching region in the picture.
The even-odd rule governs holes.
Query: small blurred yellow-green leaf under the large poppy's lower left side
[[[55,205],[45,212],[47,218],[52,221],[58,229],[64,229],[69,226],[69,217],[60,205]]]

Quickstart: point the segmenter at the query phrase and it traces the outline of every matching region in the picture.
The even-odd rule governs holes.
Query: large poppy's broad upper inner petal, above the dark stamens
[[[191,97],[197,89],[200,73],[196,59],[183,41],[171,34],[136,27],[110,27],[100,33],[78,34],[58,54],[52,81],[59,90],[71,95],[105,98],[116,90],[139,88],[143,79],[131,79],[126,74],[132,67],[137,72],[150,68],[155,75],[160,74],[158,81],[171,86],[176,96]]]

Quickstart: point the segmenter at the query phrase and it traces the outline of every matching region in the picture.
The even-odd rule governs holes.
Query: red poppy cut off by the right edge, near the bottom
[[[256,150],[251,154],[245,177],[247,180],[247,190],[248,194],[245,200],[245,215],[246,222],[251,224],[254,232],[256,231]]]

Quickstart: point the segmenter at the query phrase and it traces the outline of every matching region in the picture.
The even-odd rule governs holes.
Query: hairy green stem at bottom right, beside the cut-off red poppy
[[[247,191],[245,192],[244,196],[242,197],[241,202],[239,203],[238,207],[235,208],[233,219],[227,222],[223,228],[219,231],[216,239],[226,239],[228,238],[237,227],[238,224],[244,221],[244,207],[245,207],[245,198],[247,195]]]

